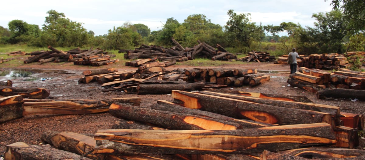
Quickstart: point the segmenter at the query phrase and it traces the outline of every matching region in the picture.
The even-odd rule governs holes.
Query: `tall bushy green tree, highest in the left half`
[[[65,17],[64,13],[58,13],[55,10],[49,10],[47,13],[49,16],[46,17],[45,24],[43,24],[42,37],[47,37],[48,41],[39,39],[38,44],[61,47],[81,47],[88,44],[88,32],[82,27],[82,23],[71,21]],[[55,44],[50,44],[50,42],[55,42]]]

